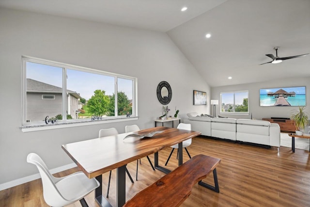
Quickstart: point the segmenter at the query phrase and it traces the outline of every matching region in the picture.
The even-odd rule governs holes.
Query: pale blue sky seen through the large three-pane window
[[[45,64],[27,62],[28,79],[41,81],[62,88],[62,68]],[[118,78],[118,91],[123,91],[132,99],[132,80]],[[75,91],[88,100],[95,90],[104,90],[106,95],[115,91],[114,77],[96,73],[67,69],[67,90]]]

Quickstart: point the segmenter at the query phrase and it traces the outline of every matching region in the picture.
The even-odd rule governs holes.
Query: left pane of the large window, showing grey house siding
[[[26,122],[62,119],[62,68],[26,62],[26,78]]]

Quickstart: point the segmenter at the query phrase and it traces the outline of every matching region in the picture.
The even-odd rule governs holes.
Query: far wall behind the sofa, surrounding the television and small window
[[[285,63],[283,63],[285,64]],[[270,118],[270,117],[286,117],[290,118],[291,113],[298,109],[298,107],[261,107],[260,106],[260,89],[263,88],[281,88],[281,87],[293,87],[293,86],[306,86],[306,111],[310,115],[310,77],[305,78],[294,78],[294,79],[281,79],[267,82],[230,85],[222,87],[211,88],[211,99],[219,99],[220,92],[232,92],[232,91],[246,91],[248,90],[248,107],[249,115],[223,115],[230,118],[242,118],[248,119],[251,117],[255,119]],[[213,114],[213,107],[211,107]],[[219,114],[219,106],[216,107],[216,113]]]

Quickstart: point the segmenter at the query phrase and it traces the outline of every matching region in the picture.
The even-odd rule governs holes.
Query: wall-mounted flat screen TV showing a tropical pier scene
[[[260,106],[306,106],[306,86],[260,89]]]

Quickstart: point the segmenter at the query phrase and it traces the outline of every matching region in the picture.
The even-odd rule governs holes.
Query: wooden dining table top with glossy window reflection
[[[63,144],[62,149],[74,160],[85,175],[93,178],[201,134],[197,131],[170,127],[153,127],[134,133],[144,134],[159,130],[164,130],[164,132],[155,134],[150,138],[130,137],[124,140],[125,136],[133,133],[130,132]]]

